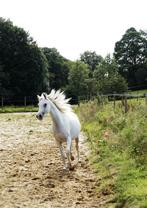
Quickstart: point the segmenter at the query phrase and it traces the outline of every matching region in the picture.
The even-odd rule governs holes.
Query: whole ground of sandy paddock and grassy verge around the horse
[[[147,106],[144,99],[75,107],[83,132],[80,163],[63,171],[51,119],[0,114],[0,207],[146,208]],[[30,108],[23,111],[30,111]],[[33,109],[34,111],[36,108]]]

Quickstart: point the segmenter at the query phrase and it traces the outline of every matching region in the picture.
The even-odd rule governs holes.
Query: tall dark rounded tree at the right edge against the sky
[[[130,28],[123,35],[122,39],[115,44],[114,56],[119,66],[120,74],[125,77],[129,86],[147,84],[147,80],[142,77],[138,79],[138,74],[143,73],[147,78],[147,34],[143,31],[136,31]]]

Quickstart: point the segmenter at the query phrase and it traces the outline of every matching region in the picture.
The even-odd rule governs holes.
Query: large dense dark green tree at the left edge
[[[0,18],[0,63],[5,94],[15,98],[47,89],[47,60],[37,44],[22,28]]]

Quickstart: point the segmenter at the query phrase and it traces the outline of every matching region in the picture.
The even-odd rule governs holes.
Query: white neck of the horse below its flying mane
[[[61,112],[59,109],[50,101],[51,109],[50,109],[50,115],[51,118],[56,125],[60,125],[61,123]]]

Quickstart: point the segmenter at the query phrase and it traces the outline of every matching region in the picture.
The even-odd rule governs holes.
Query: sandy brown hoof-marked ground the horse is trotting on
[[[40,122],[33,113],[0,114],[0,207],[103,207],[82,135],[80,160],[62,170],[49,116]]]

